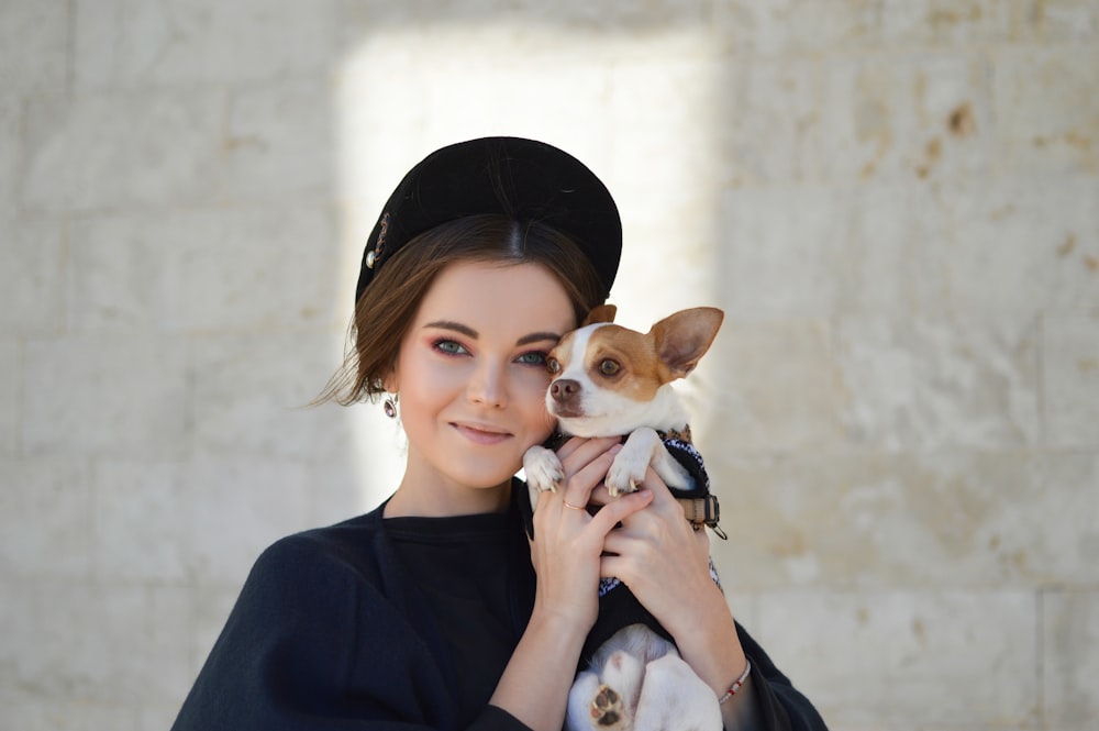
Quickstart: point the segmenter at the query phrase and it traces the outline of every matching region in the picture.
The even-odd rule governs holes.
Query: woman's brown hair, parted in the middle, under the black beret
[[[343,366],[317,402],[349,406],[385,392],[404,333],[435,278],[457,262],[539,264],[565,288],[576,322],[603,301],[603,285],[576,243],[544,223],[469,215],[409,241],[375,274],[355,306]]]

